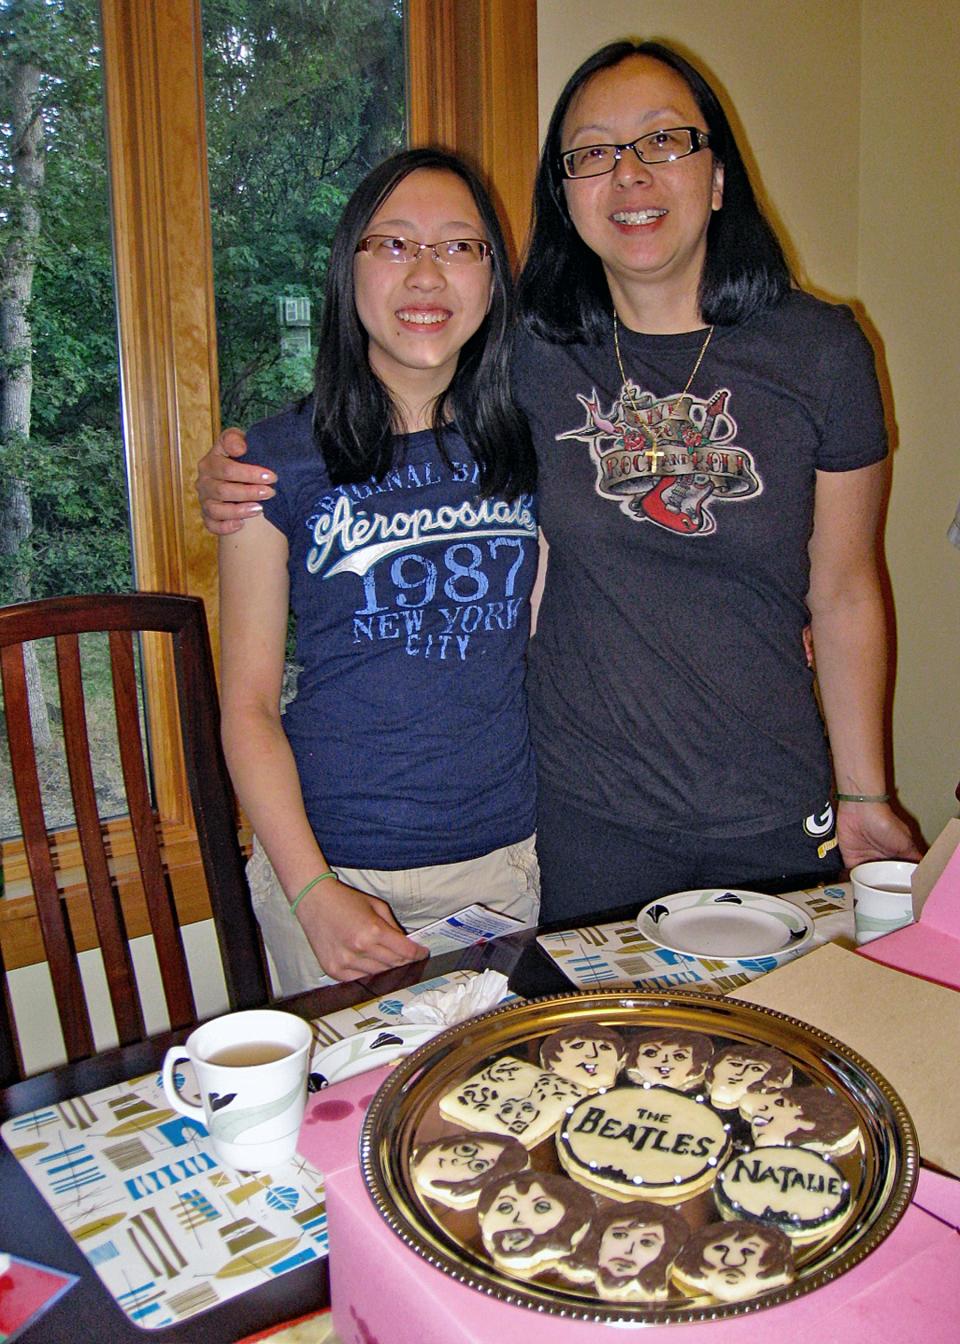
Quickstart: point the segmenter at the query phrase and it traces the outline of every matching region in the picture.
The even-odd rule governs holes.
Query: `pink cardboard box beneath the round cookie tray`
[[[376,1212],[358,1164],[366,1105],[386,1070],[312,1098],[301,1152],[327,1173],[333,1324],[343,1344],[604,1344],[612,1327],[542,1316],[457,1284],[411,1251]],[[847,1274],[756,1316],[683,1327],[683,1344],[956,1344],[957,1183],[925,1185],[886,1241]],[[933,1211],[928,1212],[925,1204]],[[953,1222],[951,1222],[953,1220]],[[678,1344],[676,1327],[636,1327]],[[643,1332],[640,1335],[639,1332]]]

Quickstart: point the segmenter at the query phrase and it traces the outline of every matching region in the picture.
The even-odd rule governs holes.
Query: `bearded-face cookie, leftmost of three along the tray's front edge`
[[[573,1251],[594,1210],[590,1195],[566,1176],[527,1171],[484,1184],[477,1222],[489,1257],[530,1277]]]

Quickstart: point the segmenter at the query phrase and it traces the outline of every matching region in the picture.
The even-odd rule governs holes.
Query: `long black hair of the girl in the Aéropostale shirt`
[[[510,392],[514,285],[493,204],[477,175],[442,149],[406,149],[385,159],[347,203],[331,245],[327,296],[313,378],[313,437],[331,481],[382,480],[395,465],[395,403],[370,367],[367,332],[356,313],[354,257],[370,219],[411,172],[450,172],[467,184],[492,249],[487,316],[460,352],[450,386],[437,398],[433,430],[440,452],[453,419],[480,469],[483,495],[515,497],[536,481],[530,427]]]

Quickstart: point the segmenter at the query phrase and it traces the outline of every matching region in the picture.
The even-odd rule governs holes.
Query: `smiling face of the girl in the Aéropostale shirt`
[[[429,243],[487,238],[467,183],[433,168],[403,177],[363,233]],[[411,410],[449,386],[460,351],[487,314],[491,266],[489,257],[473,265],[444,265],[429,249],[405,263],[366,251],[354,258],[356,312],[368,336],[370,367]]]

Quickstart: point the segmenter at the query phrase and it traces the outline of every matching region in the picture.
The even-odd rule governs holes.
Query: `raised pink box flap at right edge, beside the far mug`
[[[947,823],[913,875],[913,918],[861,956],[960,989],[960,821]]]

